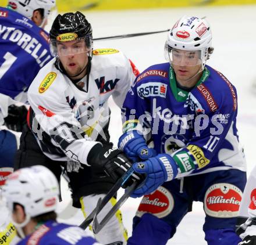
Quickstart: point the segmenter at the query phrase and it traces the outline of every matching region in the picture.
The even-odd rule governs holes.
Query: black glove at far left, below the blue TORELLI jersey
[[[5,126],[10,130],[22,132],[27,121],[26,106],[10,105],[8,107],[8,116],[5,117]]]

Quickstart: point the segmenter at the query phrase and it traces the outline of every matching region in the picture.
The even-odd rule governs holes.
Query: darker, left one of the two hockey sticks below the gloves
[[[125,172],[125,174],[115,183],[115,185],[113,185],[111,190],[109,190],[104,199],[102,199],[101,205],[99,207],[96,206],[91,214],[88,215],[88,217],[79,225],[79,227],[81,227],[82,229],[86,229],[88,225],[90,225],[93,221],[95,214],[97,214],[99,210],[102,210],[102,208],[108,203],[108,201],[111,200],[113,196],[115,196],[116,192],[122,187],[122,185],[127,181],[127,179],[129,179],[132,174],[132,168]]]

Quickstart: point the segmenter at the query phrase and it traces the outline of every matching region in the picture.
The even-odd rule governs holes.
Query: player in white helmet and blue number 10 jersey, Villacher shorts
[[[236,128],[237,93],[205,63],[213,52],[209,23],[182,17],[168,33],[168,63],[138,75],[123,104],[119,147],[145,181],[128,244],[166,244],[193,201],[204,203],[209,245],[237,244],[234,232],[246,184]],[[151,147],[150,147],[151,145]]]

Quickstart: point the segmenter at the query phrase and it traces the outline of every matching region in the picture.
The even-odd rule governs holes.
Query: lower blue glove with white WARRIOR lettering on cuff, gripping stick
[[[141,197],[154,192],[163,182],[171,181],[178,173],[177,164],[169,154],[158,154],[146,161],[134,163],[133,170],[146,176],[131,197]]]

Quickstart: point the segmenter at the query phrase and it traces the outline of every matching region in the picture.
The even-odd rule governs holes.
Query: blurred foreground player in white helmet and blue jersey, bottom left
[[[48,168],[34,165],[9,175],[2,200],[12,212],[13,224],[22,244],[100,245],[78,226],[56,222],[59,185]]]

